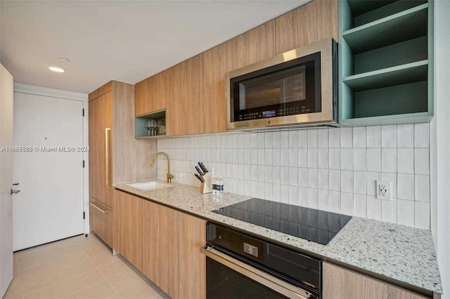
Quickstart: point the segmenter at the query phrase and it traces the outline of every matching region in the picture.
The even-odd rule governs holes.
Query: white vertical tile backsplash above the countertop
[[[174,182],[199,185],[203,161],[225,191],[364,218],[430,227],[430,126],[311,128],[158,140]],[[158,161],[158,178],[167,163]],[[391,181],[392,200],[375,198]]]

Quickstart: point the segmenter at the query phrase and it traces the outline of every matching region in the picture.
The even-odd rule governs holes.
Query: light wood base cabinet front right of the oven
[[[323,299],[424,299],[430,298],[364,274],[324,262]]]

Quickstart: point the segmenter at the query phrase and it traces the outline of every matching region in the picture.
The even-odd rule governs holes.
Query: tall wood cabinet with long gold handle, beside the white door
[[[91,232],[112,247],[113,183],[157,178],[156,141],[134,138],[133,85],[110,81],[89,94],[89,148]]]

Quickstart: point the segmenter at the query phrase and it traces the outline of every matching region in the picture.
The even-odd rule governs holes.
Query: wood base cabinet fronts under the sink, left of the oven
[[[172,298],[205,298],[206,221],[114,190],[114,248]]]

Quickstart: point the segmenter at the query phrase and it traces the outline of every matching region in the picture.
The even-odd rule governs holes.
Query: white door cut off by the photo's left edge
[[[13,76],[0,65],[0,298],[13,280]]]

